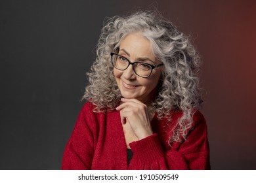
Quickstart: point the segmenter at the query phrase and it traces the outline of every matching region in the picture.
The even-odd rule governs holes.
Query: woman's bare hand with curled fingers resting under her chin
[[[153,134],[148,108],[137,99],[124,99],[116,110],[120,111],[121,123],[129,122],[139,140]]]

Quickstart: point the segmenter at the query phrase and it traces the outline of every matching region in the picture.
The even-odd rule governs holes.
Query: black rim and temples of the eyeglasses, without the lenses
[[[135,73],[137,76],[140,76],[140,75],[138,75],[138,74],[136,73],[135,68],[134,68],[134,65],[135,65],[135,63],[143,63],[143,64],[146,64],[146,65],[150,66],[151,71],[150,71],[150,74],[149,74],[148,76],[140,76],[140,77],[142,77],[142,78],[148,78],[148,77],[151,75],[153,69],[156,69],[157,67],[160,67],[160,66],[163,65],[163,63],[160,63],[160,64],[158,64],[158,65],[151,65],[151,64],[149,64],[149,63],[144,63],[144,62],[142,62],[142,61],[131,62],[131,61],[129,61],[129,59],[125,58],[124,56],[120,56],[119,54],[114,53],[114,51],[116,51],[116,50],[118,50],[118,48],[114,49],[114,50],[110,53],[110,55],[111,55],[111,62],[112,62],[112,65],[113,65],[116,69],[118,69],[119,71],[125,71],[125,70],[129,67],[129,65],[133,65],[133,71],[134,71],[134,73]],[[125,69],[119,69],[119,68],[117,68],[117,67],[114,65],[114,63],[113,63],[113,55],[120,56],[121,58],[126,59],[126,60],[128,61],[128,63],[129,63],[129,64],[127,65],[127,67],[126,67]]]

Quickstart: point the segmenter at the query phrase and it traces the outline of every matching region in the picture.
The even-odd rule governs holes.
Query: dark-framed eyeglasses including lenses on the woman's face
[[[116,52],[118,52],[119,48],[116,48],[113,50],[113,52],[110,53],[111,59],[112,59],[112,65],[120,70],[120,71],[125,71],[129,67],[129,65],[133,65],[133,71],[135,72],[136,75],[142,77],[142,78],[147,78],[148,76],[151,75],[152,70],[156,69],[156,67],[160,67],[163,65],[163,63],[160,63],[158,65],[152,65],[152,61],[135,61],[131,62],[129,59],[125,58],[124,56],[120,56]],[[150,63],[147,63],[150,62]]]

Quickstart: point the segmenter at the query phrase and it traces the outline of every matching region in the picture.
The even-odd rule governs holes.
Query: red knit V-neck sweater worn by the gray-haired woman
[[[199,111],[194,114],[186,141],[169,146],[171,124],[181,114],[172,112],[168,124],[155,115],[154,134],[130,143],[133,158],[128,165],[119,111],[93,112],[93,105],[87,102],[64,150],[62,169],[209,169],[206,123]]]

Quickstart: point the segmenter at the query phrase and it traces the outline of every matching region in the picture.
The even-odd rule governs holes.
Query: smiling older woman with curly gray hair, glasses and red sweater
[[[199,66],[157,12],[110,18],[62,169],[209,169]]]

